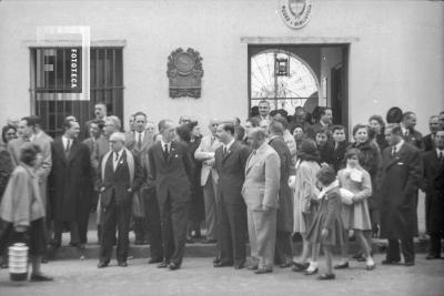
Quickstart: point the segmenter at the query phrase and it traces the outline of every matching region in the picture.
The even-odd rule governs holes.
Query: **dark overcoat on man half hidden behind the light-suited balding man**
[[[281,180],[279,188],[279,208],[276,229],[281,232],[293,231],[293,191],[289,186],[289,176],[292,172],[291,153],[282,136],[269,141],[281,160]],[[294,171],[294,170],[293,170]]]

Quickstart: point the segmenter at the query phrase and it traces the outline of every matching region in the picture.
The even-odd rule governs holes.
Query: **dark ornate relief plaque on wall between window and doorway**
[[[167,75],[170,80],[170,98],[201,98],[202,58],[193,49],[176,49],[168,57]]]

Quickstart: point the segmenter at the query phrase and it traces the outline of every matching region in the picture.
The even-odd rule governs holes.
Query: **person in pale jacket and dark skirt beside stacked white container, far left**
[[[42,154],[34,143],[24,143],[20,151],[20,163],[12,172],[0,204],[0,217],[7,223],[0,237],[1,248],[13,243],[26,243],[32,264],[31,280],[48,282],[51,277],[40,271],[47,239],[44,228],[44,204],[40,196],[36,167]]]

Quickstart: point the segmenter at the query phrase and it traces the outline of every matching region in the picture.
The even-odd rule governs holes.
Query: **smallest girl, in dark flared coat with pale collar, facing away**
[[[341,193],[336,173],[330,166],[324,166],[316,174],[322,191],[319,194],[320,206],[313,224],[307,232],[312,244],[321,244],[326,264],[326,273],[320,279],[334,279],[332,266],[332,248],[345,244],[344,227],[341,218]],[[313,258],[315,261],[316,258]]]

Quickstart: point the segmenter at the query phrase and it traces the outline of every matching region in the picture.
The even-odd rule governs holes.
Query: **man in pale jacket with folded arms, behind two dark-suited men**
[[[206,239],[203,243],[215,243],[218,239],[218,171],[215,170],[215,150],[221,145],[216,136],[219,120],[211,120],[209,130],[211,134],[201,140],[194,152],[194,159],[202,162],[201,186],[203,187],[203,202],[205,206]]]

